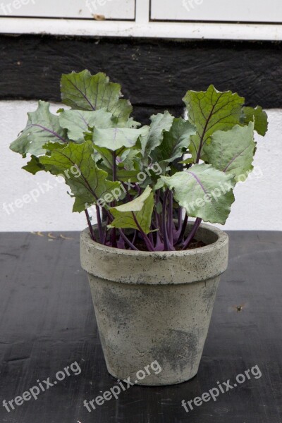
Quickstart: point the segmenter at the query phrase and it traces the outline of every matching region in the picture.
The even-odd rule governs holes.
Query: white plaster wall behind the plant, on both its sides
[[[59,106],[53,104],[51,110],[56,111]],[[85,215],[71,212],[73,200],[66,194],[66,185],[58,184],[49,173],[32,176],[23,171],[25,161],[8,148],[25,127],[27,111],[35,109],[36,102],[0,102],[0,231],[80,231],[87,226]],[[235,188],[236,201],[226,229],[282,230],[282,110],[267,113],[269,132],[257,139],[255,172]],[[15,201],[32,194],[32,190],[40,192],[36,201],[15,207]]]

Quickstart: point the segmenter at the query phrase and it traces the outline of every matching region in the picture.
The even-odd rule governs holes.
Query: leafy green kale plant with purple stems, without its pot
[[[266,133],[266,113],[211,85],[185,94],[187,120],[165,111],[142,126],[121,97],[120,85],[104,73],[62,75],[61,98],[69,108],[51,114],[49,103],[39,102],[11,149],[30,154],[26,171],[64,178],[73,212],[85,212],[97,243],[185,250],[201,221],[226,222],[235,184],[252,171],[254,131]]]

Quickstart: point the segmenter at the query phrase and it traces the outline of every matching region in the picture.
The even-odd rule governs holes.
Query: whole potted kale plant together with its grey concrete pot
[[[81,263],[109,373],[157,360],[161,372],[134,382],[177,384],[197,374],[228,262],[228,236],[202,221],[225,223],[267,116],[211,85],[185,94],[188,120],[165,111],[142,126],[120,88],[104,73],[63,75],[69,108],[39,102],[11,149],[30,154],[26,171],[63,177],[86,214]]]

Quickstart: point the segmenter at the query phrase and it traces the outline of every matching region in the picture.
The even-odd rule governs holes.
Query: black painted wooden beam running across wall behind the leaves
[[[282,43],[0,36],[0,99],[59,101],[61,73],[88,68],[120,82],[135,116],[182,110],[190,90],[233,90],[282,107]]]

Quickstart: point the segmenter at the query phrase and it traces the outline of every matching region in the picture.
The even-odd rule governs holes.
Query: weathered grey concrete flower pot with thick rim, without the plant
[[[136,252],[94,243],[88,229],[82,232],[81,264],[90,281],[106,366],[116,378],[134,381],[155,360],[161,372],[137,384],[179,384],[197,374],[228,263],[228,235],[202,224],[196,238],[207,246]]]

